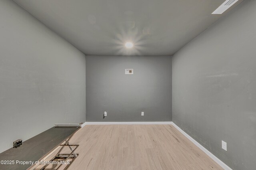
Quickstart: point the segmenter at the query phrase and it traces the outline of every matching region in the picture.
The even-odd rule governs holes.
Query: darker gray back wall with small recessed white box
[[[171,121],[171,65],[170,56],[86,55],[86,121]]]

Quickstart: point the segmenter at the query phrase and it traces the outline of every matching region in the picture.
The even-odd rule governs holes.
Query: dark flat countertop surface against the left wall
[[[16,160],[38,161],[78,129],[80,127],[52,127],[22,142],[20,147],[0,153],[0,160],[14,160],[14,164],[0,164],[0,170],[26,170],[32,164],[16,164]]]

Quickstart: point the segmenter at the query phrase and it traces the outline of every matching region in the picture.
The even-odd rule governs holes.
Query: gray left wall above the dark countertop
[[[85,56],[0,0],[0,152],[54,123],[85,121]]]

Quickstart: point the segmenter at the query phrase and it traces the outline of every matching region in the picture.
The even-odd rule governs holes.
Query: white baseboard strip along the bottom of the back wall
[[[86,122],[85,125],[171,125],[172,122]],[[84,126],[82,125],[82,127]]]

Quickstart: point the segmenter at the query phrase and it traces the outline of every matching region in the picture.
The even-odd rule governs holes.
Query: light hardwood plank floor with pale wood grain
[[[69,170],[222,169],[172,125],[86,125]]]

